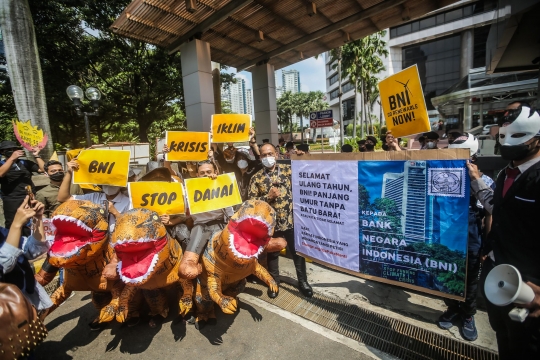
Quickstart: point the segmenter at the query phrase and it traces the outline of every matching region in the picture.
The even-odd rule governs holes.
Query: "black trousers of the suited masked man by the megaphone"
[[[486,259],[482,269],[480,286],[489,270],[493,268],[491,259]],[[486,270],[484,272],[484,270]],[[482,292],[483,293],[483,292]],[[484,296],[485,297],[485,296]],[[486,299],[489,324],[495,330],[500,360],[538,360],[540,359],[540,318],[528,317],[524,322],[513,321],[508,316],[513,305],[496,306]]]

